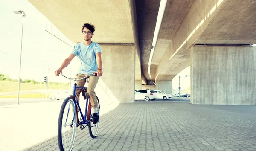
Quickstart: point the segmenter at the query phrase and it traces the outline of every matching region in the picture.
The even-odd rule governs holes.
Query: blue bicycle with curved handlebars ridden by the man
[[[61,73],[58,73],[62,75]],[[64,75],[62,75],[64,76]],[[73,96],[68,96],[60,110],[59,119],[58,119],[58,146],[61,151],[71,151],[75,139],[76,139],[76,128],[80,126],[80,129],[83,130],[86,126],[88,126],[90,136],[95,138],[98,130],[99,130],[99,122],[93,124],[93,119],[91,115],[91,103],[88,101],[90,99],[87,93],[87,87],[77,87],[76,81],[86,79],[86,82],[89,82],[90,76],[96,76],[96,74],[90,74],[84,78],[76,79],[76,78],[65,78],[69,80],[74,80],[75,84],[73,87]],[[82,95],[84,96],[84,100],[86,99],[85,105],[85,114],[82,113],[79,102],[76,98],[76,89],[82,89]],[[97,107],[100,109],[99,99],[97,98]],[[78,119],[78,110],[81,114],[80,120]],[[99,115],[99,114],[98,114]]]

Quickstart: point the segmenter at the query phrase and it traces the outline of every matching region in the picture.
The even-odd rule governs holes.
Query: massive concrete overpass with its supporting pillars
[[[96,26],[102,46],[102,90],[121,103],[134,89],[172,93],[172,79],[191,66],[191,103],[256,105],[255,0],[167,0],[148,61],[160,0],[29,0],[67,38]],[[153,85],[156,83],[156,86]]]

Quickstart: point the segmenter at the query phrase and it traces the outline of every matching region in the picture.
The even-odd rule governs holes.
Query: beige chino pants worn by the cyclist
[[[76,78],[84,78],[88,75],[84,75],[84,74],[78,74],[76,76]],[[97,83],[98,83],[98,80],[99,80],[99,77],[98,76],[90,76],[89,77],[89,84],[88,84],[88,87],[87,87],[87,92],[88,92],[88,95],[90,96],[90,103],[92,105],[93,108],[96,108],[97,107],[97,98],[96,98],[96,93],[94,91]],[[84,84],[85,84],[85,79],[83,80],[78,80],[76,82],[77,84],[77,87],[84,87]],[[82,89],[76,89],[76,99],[77,101],[79,102],[79,96],[80,96],[80,93],[82,92]]]

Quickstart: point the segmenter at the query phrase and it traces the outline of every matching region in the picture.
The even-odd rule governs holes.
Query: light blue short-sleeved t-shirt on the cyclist
[[[96,53],[98,52],[102,53],[100,45],[93,41],[90,45],[84,45],[83,42],[76,44],[71,52],[81,61],[81,66],[76,74],[92,74],[97,71]]]

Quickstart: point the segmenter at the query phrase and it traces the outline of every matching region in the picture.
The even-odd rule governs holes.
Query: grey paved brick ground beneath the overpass
[[[54,137],[26,151],[58,150]],[[256,106],[192,105],[186,101],[120,104],[100,117],[96,139],[90,137],[87,128],[78,129],[73,148],[73,151],[217,150],[256,151]]]

